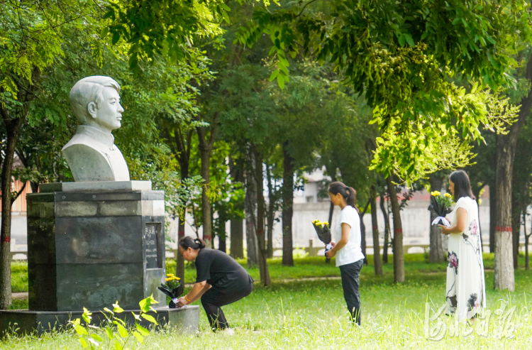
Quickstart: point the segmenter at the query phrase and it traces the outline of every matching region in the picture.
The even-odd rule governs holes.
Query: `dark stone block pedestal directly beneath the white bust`
[[[45,184],[27,203],[30,310],[165,305],[164,193],[150,182]]]

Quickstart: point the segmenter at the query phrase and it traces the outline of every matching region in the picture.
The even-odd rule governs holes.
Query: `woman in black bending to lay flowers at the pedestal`
[[[186,261],[196,261],[196,283],[187,295],[179,298],[177,307],[201,297],[213,330],[229,327],[221,306],[250,295],[253,278],[239,263],[223,251],[205,248],[201,239],[184,237],[179,240],[179,253]]]

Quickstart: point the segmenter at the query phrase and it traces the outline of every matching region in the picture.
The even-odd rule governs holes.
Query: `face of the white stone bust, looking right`
[[[89,113],[100,128],[111,132],[121,126],[123,108],[120,105],[120,95],[113,87],[104,87],[102,96],[104,101],[99,108],[96,108],[94,102],[89,104]]]

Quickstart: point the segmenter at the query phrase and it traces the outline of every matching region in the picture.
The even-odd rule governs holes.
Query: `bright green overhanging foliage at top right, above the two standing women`
[[[381,137],[372,167],[385,175],[411,182],[466,165],[468,141],[482,139],[478,126],[499,129],[506,120],[489,115],[482,93],[466,94],[447,77],[460,73],[495,91],[514,84],[509,53],[531,38],[524,1],[335,0],[325,11],[316,0],[282,4],[258,8],[238,41],[253,45],[270,35],[280,86],[289,77],[287,55],[302,50],[331,62],[374,108]]]

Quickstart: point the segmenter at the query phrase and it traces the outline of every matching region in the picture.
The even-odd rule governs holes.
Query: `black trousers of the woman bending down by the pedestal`
[[[253,290],[253,280],[235,281],[231,288],[216,288],[214,286],[201,295],[201,305],[205,309],[211,329],[226,329],[229,327],[226,316],[221,307],[247,297]]]

